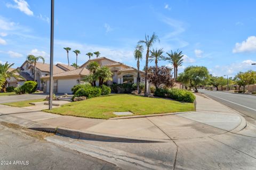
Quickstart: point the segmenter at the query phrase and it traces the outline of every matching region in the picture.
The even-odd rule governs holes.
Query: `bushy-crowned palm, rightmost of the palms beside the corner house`
[[[173,70],[174,70],[174,79],[176,80],[178,77],[178,67],[182,66],[182,62],[183,62],[183,55],[182,55],[182,51],[175,51],[170,53],[166,53],[167,55],[169,55],[169,57],[166,57],[165,60],[169,60],[170,63],[173,64]]]

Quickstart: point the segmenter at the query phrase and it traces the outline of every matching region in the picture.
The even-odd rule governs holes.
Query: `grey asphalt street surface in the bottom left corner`
[[[97,158],[0,125],[0,169],[118,169]],[[9,164],[9,165],[6,165]]]

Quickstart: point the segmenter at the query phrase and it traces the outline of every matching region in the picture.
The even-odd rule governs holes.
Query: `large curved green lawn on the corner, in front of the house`
[[[194,111],[194,104],[131,94],[110,94],[44,111],[60,115],[108,119],[118,117],[113,114],[115,111],[131,111],[134,115]]]

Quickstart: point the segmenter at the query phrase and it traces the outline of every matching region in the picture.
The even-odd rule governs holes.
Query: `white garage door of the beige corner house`
[[[77,79],[58,80],[58,93],[72,93],[74,85],[77,85]]]

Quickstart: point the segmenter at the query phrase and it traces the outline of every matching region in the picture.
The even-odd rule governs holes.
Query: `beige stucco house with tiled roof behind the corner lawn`
[[[90,71],[86,69],[86,66],[92,61],[98,62],[100,67],[106,66],[111,70],[111,72],[113,73],[113,80],[107,82],[108,85],[111,85],[113,83],[137,83],[137,69],[127,66],[124,63],[108,59],[106,57],[100,57],[86,61],[78,69],[54,74],[54,93],[71,93],[71,88],[74,85],[81,83],[84,76],[90,74]],[[140,71],[141,83],[144,83],[144,75],[145,72]],[[50,76],[41,77],[44,85],[44,92],[49,92],[49,78]],[[99,85],[99,81],[96,82],[96,85]],[[150,92],[149,83],[147,90],[148,92]]]

